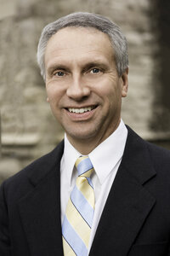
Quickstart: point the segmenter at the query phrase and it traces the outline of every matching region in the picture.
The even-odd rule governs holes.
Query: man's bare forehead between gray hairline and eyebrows
[[[113,56],[111,40],[104,32],[89,27],[65,27],[49,40],[45,50],[45,63],[58,59],[74,60]],[[46,65],[47,67],[47,65]]]

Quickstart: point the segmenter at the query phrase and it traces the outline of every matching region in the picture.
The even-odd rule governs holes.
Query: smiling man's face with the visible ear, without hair
[[[120,122],[127,72],[118,77],[108,36],[94,28],[66,27],[45,52],[48,102],[70,142],[101,143]]]

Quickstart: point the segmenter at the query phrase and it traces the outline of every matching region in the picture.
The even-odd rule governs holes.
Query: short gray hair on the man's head
[[[120,27],[102,15],[78,12],[61,17],[59,20],[55,20],[54,22],[49,23],[42,30],[42,34],[37,47],[37,62],[44,80],[44,54],[48,40],[60,29],[67,26],[94,27],[100,32],[107,34],[111,40],[111,45],[115,52],[114,57],[116,61],[117,73],[119,76],[122,76],[122,73],[124,73],[128,67],[128,54],[127,39],[123,35]]]

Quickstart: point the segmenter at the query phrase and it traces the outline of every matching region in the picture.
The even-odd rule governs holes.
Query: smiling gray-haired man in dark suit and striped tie
[[[1,186],[0,255],[170,255],[170,153],[123,124],[120,28],[65,16],[42,31],[37,60],[65,140]]]

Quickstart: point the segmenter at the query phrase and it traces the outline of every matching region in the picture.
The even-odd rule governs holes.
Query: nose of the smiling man
[[[77,76],[73,77],[68,84],[66,95],[75,101],[82,101],[90,95],[90,89],[82,77]]]

